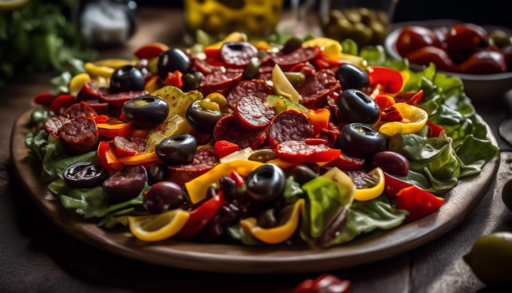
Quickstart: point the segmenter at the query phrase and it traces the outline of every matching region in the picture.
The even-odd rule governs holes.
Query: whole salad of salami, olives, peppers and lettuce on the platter
[[[350,39],[134,55],[36,96],[26,146],[63,206],[142,241],[346,243],[436,211],[498,155],[459,78]]]

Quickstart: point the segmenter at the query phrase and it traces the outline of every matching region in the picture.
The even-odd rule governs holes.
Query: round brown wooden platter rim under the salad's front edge
[[[28,157],[25,134],[30,111],[20,116],[11,136],[11,158],[20,184],[55,225],[84,242],[111,253],[148,263],[223,273],[268,274],[324,271],[389,258],[429,242],[458,225],[485,196],[498,172],[499,160],[487,162],[480,174],[463,178],[446,194],[441,208],[390,231],[379,231],[344,245],[311,249],[306,245],[239,246],[166,240],[146,243],[127,231],[99,228],[67,210],[40,176],[40,162]],[[487,127],[488,128],[488,127]],[[488,129],[489,139],[496,139]]]

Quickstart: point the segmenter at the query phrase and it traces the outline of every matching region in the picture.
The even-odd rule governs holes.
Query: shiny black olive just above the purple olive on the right
[[[386,138],[368,125],[350,123],[345,125],[339,134],[339,143],[347,155],[365,158],[382,150]]]

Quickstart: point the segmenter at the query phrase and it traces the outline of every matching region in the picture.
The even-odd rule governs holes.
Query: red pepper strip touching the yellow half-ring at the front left
[[[190,212],[185,226],[176,234],[178,239],[188,239],[198,234],[201,229],[217,214],[224,204],[224,196],[220,191],[216,196],[208,199]]]

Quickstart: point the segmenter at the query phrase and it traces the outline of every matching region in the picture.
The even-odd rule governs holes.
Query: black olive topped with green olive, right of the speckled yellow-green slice
[[[204,104],[205,103],[203,102],[203,106]],[[219,107],[218,104],[217,107]],[[185,112],[185,118],[187,119],[188,124],[190,124],[190,127],[200,133],[213,133],[217,121],[222,117],[223,115],[221,111],[212,111],[201,107],[201,101],[194,101],[193,103],[190,103],[187,111]]]

